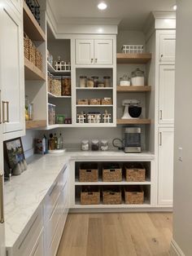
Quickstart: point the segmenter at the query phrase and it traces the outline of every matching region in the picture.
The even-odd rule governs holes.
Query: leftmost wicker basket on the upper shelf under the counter
[[[80,182],[97,182],[98,181],[98,164],[86,163],[81,164],[79,169]]]

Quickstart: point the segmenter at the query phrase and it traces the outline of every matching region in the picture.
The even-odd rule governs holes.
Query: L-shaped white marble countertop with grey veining
[[[13,247],[29,219],[46,196],[51,185],[57,179],[63,166],[70,159],[101,160],[153,160],[150,152],[126,154],[124,152],[82,152],[70,151],[59,155],[36,155],[28,164],[28,170],[20,176],[13,176],[5,183],[5,229],[6,247]]]

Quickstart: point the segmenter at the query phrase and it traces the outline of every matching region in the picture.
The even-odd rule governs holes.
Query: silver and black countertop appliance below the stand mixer
[[[124,152],[142,152],[142,129],[141,127],[129,126],[124,129]]]

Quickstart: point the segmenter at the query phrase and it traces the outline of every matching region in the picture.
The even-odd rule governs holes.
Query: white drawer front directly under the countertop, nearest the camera
[[[42,206],[38,208],[33,217],[30,219],[27,227],[20,236],[19,241],[15,245],[14,255],[26,256],[31,255],[34,245],[43,229]]]

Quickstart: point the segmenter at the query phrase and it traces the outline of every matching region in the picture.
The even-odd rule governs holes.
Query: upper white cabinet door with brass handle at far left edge
[[[23,131],[20,135],[24,135],[23,30],[22,21],[7,3],[0,11],[0,21],[3,133],[4,139],[11,139],[16,131]]]

